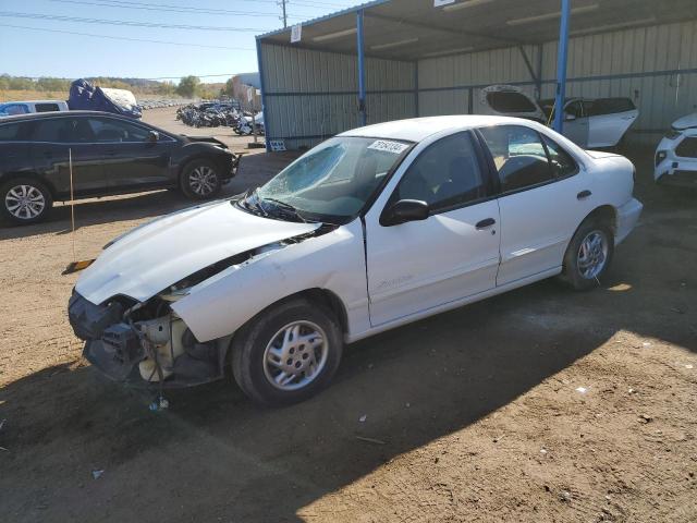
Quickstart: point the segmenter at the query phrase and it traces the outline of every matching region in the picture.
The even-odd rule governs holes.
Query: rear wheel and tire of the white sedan
[[[613,254],[612,228],[603,221],[587,219],[566,248],[562,278],[577,291],[598,287]]]

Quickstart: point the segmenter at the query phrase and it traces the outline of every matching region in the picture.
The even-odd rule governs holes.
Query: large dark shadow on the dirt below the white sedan
[[[230,376],[167,391],[159,412],[155,391],[88,366],[27,376],[0,394],[0,460],[15,471],[0,477],[5,514],[63,521],[77,506],[85,520],[127,521],[133,501],[144,521],[303,521],[308,504],[490,415],[619,331],[697,352],[690,318],[643,313],[651,289],[629,264],[594,292],[547,280],[354,343],[329,389],[284,409],[255,406]],[[93,470],[106,471],[100,483]]]

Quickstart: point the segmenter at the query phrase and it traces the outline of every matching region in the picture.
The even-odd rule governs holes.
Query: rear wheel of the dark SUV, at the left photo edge
[[[0,185],[0,216],[11,223],[37,223],[53,206],[51,192],[32,178],[14,178]]]

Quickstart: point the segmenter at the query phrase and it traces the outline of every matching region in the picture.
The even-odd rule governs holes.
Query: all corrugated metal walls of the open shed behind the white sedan
[[[534,70],[541,52],[541,97],[552,97],[557,41],[523,49]],[[358,125],[355,57],[264,42],[261,53],[270,137],[296,148]],[[517,47],[431,58],[417,66],[369,58],[368,123],[416,115],[415,69],[419,115],[476,112],[480,88],[496,83],[536,94]],[[572,37],[567,78],[567,96],[629,97],[639,109],[632,131],[661,132],[697,110],[697,21]]]

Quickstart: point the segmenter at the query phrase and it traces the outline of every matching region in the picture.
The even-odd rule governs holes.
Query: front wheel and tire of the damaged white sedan
[[[343,350],[339,323],[304,299],[271,306],[232,341],[232,370],[255,402],[281,406],[304,401],[333,377]]]

